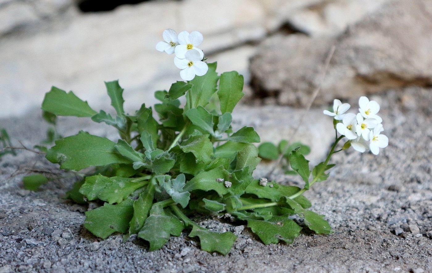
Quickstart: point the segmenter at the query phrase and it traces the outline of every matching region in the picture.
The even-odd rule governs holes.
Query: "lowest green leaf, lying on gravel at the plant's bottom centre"
[[[214,232],[194,226],[189,237],[198,236],[200,238],[201,249],[203,251],[217,251],[220,254],[226,255],[232,248],[237,236],[232,232]]]

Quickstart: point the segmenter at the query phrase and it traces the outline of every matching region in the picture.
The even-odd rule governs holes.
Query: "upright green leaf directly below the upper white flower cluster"
[[[192,86],[191,97],[194,105],[187,105],[185,109],[197,108],[198,106],[206,106],[210,102],[210,98],[213,93],[216,92],[216,83],[219,79],[216,73],[217,63],[209,63],[207,73],[204,76],[195,76],[194,79],[190,81]],[[190,102],[188,102],[190,103]]]

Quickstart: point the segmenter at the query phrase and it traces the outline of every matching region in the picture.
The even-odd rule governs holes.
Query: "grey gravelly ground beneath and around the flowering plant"
[[[88,206],[63,198],[76,178],[49,182],[38,192],[24,190],[22,176],[29,170],[59,171],[42,155],[19,151],[0,162],[0,273],[432,272],[432,89],[390,90],[374,99],[381,104],[389,146],[378,156],[353,149],[336,154],[330,178],[305,193],[311,209],[326,215],[334,234],[302,234],[293,244],[266,246],[247,227],[235,227],[243,222],[200,218],[200,225],[238,235],[228,255],[201,251],[186,234],[153,252],[136,237],[125,243],[120,234],[100,240],[83,228]],[[249,108],[270,114],[281,109]],[[35,111],[0,124],[14,140],[31,147],[46,130],[38,115]],[[89,129],[87,122],[66,121],[60,128],[64,135],[83,127],[100,136],[112,133],[103,126]],[[297,184],[289,176],[276,179]]]

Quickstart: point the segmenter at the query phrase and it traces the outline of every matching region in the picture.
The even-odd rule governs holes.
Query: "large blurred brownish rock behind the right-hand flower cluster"
[[[428,86],[432,83],[432,56],[426,53],[432,50],[431,11],[428,0],[399,0],[336,38],[270,37],[251,61],[254,92],[276,97],[283,105],[307,105],[321,85],[332,46],[336,51],[315,99],[317,105],[404,86]]]

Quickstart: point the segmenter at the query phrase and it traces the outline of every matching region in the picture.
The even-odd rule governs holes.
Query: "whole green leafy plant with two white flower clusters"
[[[302,229],[330,234],[324,216],[308,210],[311,203],[303,194],[328,178],[326,171],[334,166],[328,164],[330,157],[344,136],[358,150],[364,148],[363,138],[368,140],[375,154],[387,146],[377,125],[377,104],[362,98],[356,116],[345,114],[349,105],[335,100],[334,112],[326,113],[337,120],[342,135],[327,159],[312,169],[305,146],[287,141],[279,148],[260,146],[262,155],[269,154],[266,147],[274,147],[276,157],[277,149],[283,151],[292,172],[305,181],[303,188],[255,179],[252,174],[261,158],[254,143],[260,137],[252,127],[236,130],[231,125],[231,113],[244,95],[243,76],[235,71],[218,75],[216,62],[204,62],[197,48],[203,41],[200,32],[177,35],[167,29],[162,36],[156,49],[175,53],[174,63],[187,82],[156,91],[160,103],[153,107],[143,104],[125,112],[118,81],[105,83],[115,114],[97,112],[73,92],[56,87],[45,95],[42,109],[51,123],[56,116],[87,117],[119,133],[112,141],[79,131],[55,141],[46,153],[49,161],[84,178],[67,193],[76,202],[95,204],[86,212],[84,227],[103,239],[114,232],[123,233],[125,240],[137,235],[148,242],[149,251],[188,232],[203,250],[221,254],[229,253],[237,236],[205,229],[192,220],[196,216],[246,224],[264,244],[292,243]],[[185,105],[178,99],[182,96]]]

